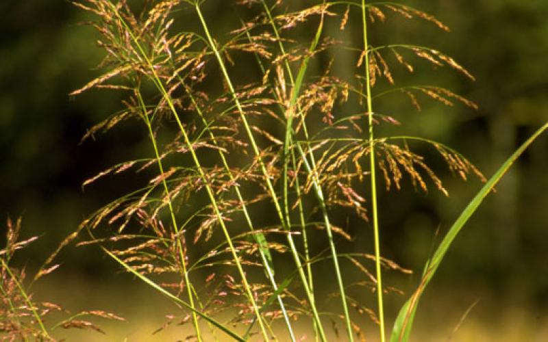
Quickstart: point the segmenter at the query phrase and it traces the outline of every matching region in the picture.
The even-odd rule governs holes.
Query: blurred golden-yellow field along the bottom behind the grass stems
[[[120,278],[125,278],[121,276]],[[179,341],[192,334],[192,327],[169,326],[158,334],[152,334],[164,324],[165,315],[182,315],[175,305],[171,304],[149,289],[138,280],[125,285],[105,282],[86,282],[77,279],[55,275],[37,287],[37,295],[47,296],[48,300],[63,304],[71,312],[99,309],[121,315],[127,321],[108,321],[95,319],[106,334],[88,330],[54,330],[54,337],[66,341],[118,342],[118,341]],[[479,302],[459,325],[466,309]],[[416,330],[411,341],[416,342],[545,342],[548,341],[548,313],[533,314],[527,308],[505,300],[488,298],[488,293],[445,293],[436,292],[427,295],[419,309]],[[393,312],[393,308],[388,308]],[[363,317],[360,323],[366,327],[366,341],[378,341],[377,330],[371,321]],[[307,322],[308,324],[308,322]],[[390,326],[390,324],[388,324]],[[303,324],[304,326],[304,324]],[[310,325],[308,325],[310,326]],[[326,326],[330,326],[326,324]],[[458,328],[457,328],[458,326]],[[278,326],[280,331],[283,326]],[[456,329],[457,328],[457,329]],[[338,339],[332,328],[327,328],[329,341],[345,341],[343,325],[338,329],[342,334]],[[302,341],[314,341],[313,334],[303,330],[297,324],[298,336]],[[216,336],[219,341],[229,341],[223,338],[221,332]],[[282,334],[283,336],[283,334]],[[215,341],[208,337],[208,341]],[[253,341],[260,341],[260,338]],[[279,341],[283,341],[280,339]]]

